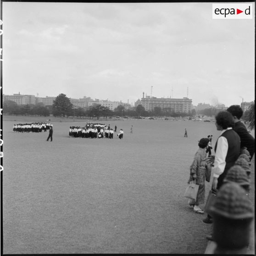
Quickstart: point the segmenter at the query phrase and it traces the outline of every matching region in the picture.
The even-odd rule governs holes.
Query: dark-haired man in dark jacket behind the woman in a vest
[[[227,109],[227,111],[233,116],[233,129],[241,139],[241,148],[246,147],[250,153],[250,158],[252,158],[255,151],[255,139],[249,134],[245,125],[240,121],[240,118],[243,116],[242,108],[239,105],[232,105]]]

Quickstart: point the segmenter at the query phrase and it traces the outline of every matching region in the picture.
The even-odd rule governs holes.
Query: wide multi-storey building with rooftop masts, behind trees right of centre
[[[143,93],[141,105],[144,106],[146,111],[153,111],[157,106],[161,107],[161,109],[171,108],[173,112],[189,113],[191,111],[192,100],[187,97],[183,99],[144,97]]]

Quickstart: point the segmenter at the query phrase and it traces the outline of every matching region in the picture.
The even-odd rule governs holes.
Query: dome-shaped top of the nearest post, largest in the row
[[[254,217],[253,206],[245,189],[233,182],[223,184],[219,189],[209,214],[234,220]]]

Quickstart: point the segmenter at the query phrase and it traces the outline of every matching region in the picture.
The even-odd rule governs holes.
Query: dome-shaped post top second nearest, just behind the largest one
[[[239,165],[234,165],[228,170],[228,173],[226,174],[223,182],[235,182],[240,186],[250,185],[250,181],[247,178],[245,169]]]

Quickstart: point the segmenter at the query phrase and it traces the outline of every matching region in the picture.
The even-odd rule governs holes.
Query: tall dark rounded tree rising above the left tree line
[[[72,103],[70,99],[63,93],[59,94],[56,99],[53,101],[52,111],[55,116],[60,116],[70,114],[72,111]]]

